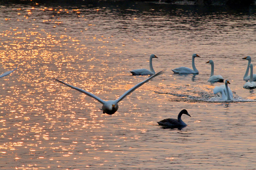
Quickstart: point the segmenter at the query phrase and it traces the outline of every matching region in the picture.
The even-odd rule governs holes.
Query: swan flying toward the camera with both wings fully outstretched
[[[111,114],[114,114],[114,113],[118,110],[118,108],[119,108],[118,102],[120,102],[121,100],[123,100],[126,96],[128,96],[130,93],[132,93],[134,90],[136,90],[136,89],[137,89],[138,87],[140,87],[141,85],[144,85],[146,82],[148,82],[149,80],[151,80],[153,77],[160,75],[162,72],[163,72],[163,71],[160,71],[160,72],[158,72],[157,74],[155,74],[155,75],[153,75],[153,76],[150,76],[150,77],[147,78],[146,80],[144,80],[144,81],[138,83],[137,85],[133,86],[133,87],[130,88],[128,91],[126,91],[125,93],[123,93],[117,100],[110,100],[110,101],[104,101],[104,100],[102,100],[101,98],[99,98],[98,96],[96,96],[96,95],[94,95],[94,94],[92,94],[92,93],[89,93],[89,92],[87,92],[87,91],[85,91],[85,90],[82,90],[82,89],[80,89],[80,88],[74,87],[73,85],[69,85],[69,84],[67,84],[67,83],[64,83],[64,82],[62,82],[62,81],[60,81],[60,80],[58,80],[58,79],[56,79],[56,78],[55,78],[55,80],[58,81],[58,82],[60,82],[60,83],[63,83],[64,85],[67,85],[67,86],[69,86],[69,87],[71,87],[71,88],[73,88],[73,89],[75,89],[75,90],[77,90],[77,91],[79,91],[79,92],[82,92],[82,93],[84,93],[84,94],[86,94],[86,95],[88,95],[88,96],[94,98],[95,100],[97,100],[98,102],[100,102],[101,104],[103,104],[103,105],[102,105],[103,113],[107,113],[107,114],[111,115]]]

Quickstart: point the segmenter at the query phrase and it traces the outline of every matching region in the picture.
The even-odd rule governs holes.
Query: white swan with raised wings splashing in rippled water
[[[213,89],[213,93],[217,94],[217,93],[221,93],[221,100],[233,100],[233,93],[231,91],[231,89],[228,86],[229,80],[225,81],[225,85],[220,85],[220,86],[216,86]]]

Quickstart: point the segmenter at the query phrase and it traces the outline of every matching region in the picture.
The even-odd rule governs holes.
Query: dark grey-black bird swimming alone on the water
[[[178,119],[172,119],[172,118],[169,118],[169,119],[164,119],[164,120],[161,120],[158,123],[158,125],[161,125],[161,126],[166,126],[166,127],[171,127],[171,128],[179,128],[179,127],[184,127],[184,126],[187,126],[187,124],[185,124],[183,122],[183,120],[181,119],[181,116],[183,114],[186,114],[188,116],[189,113],[187,110],[183,109],[181,110],[181,112],[178,114]],[[191,117],[191,116],[190,116]]]

